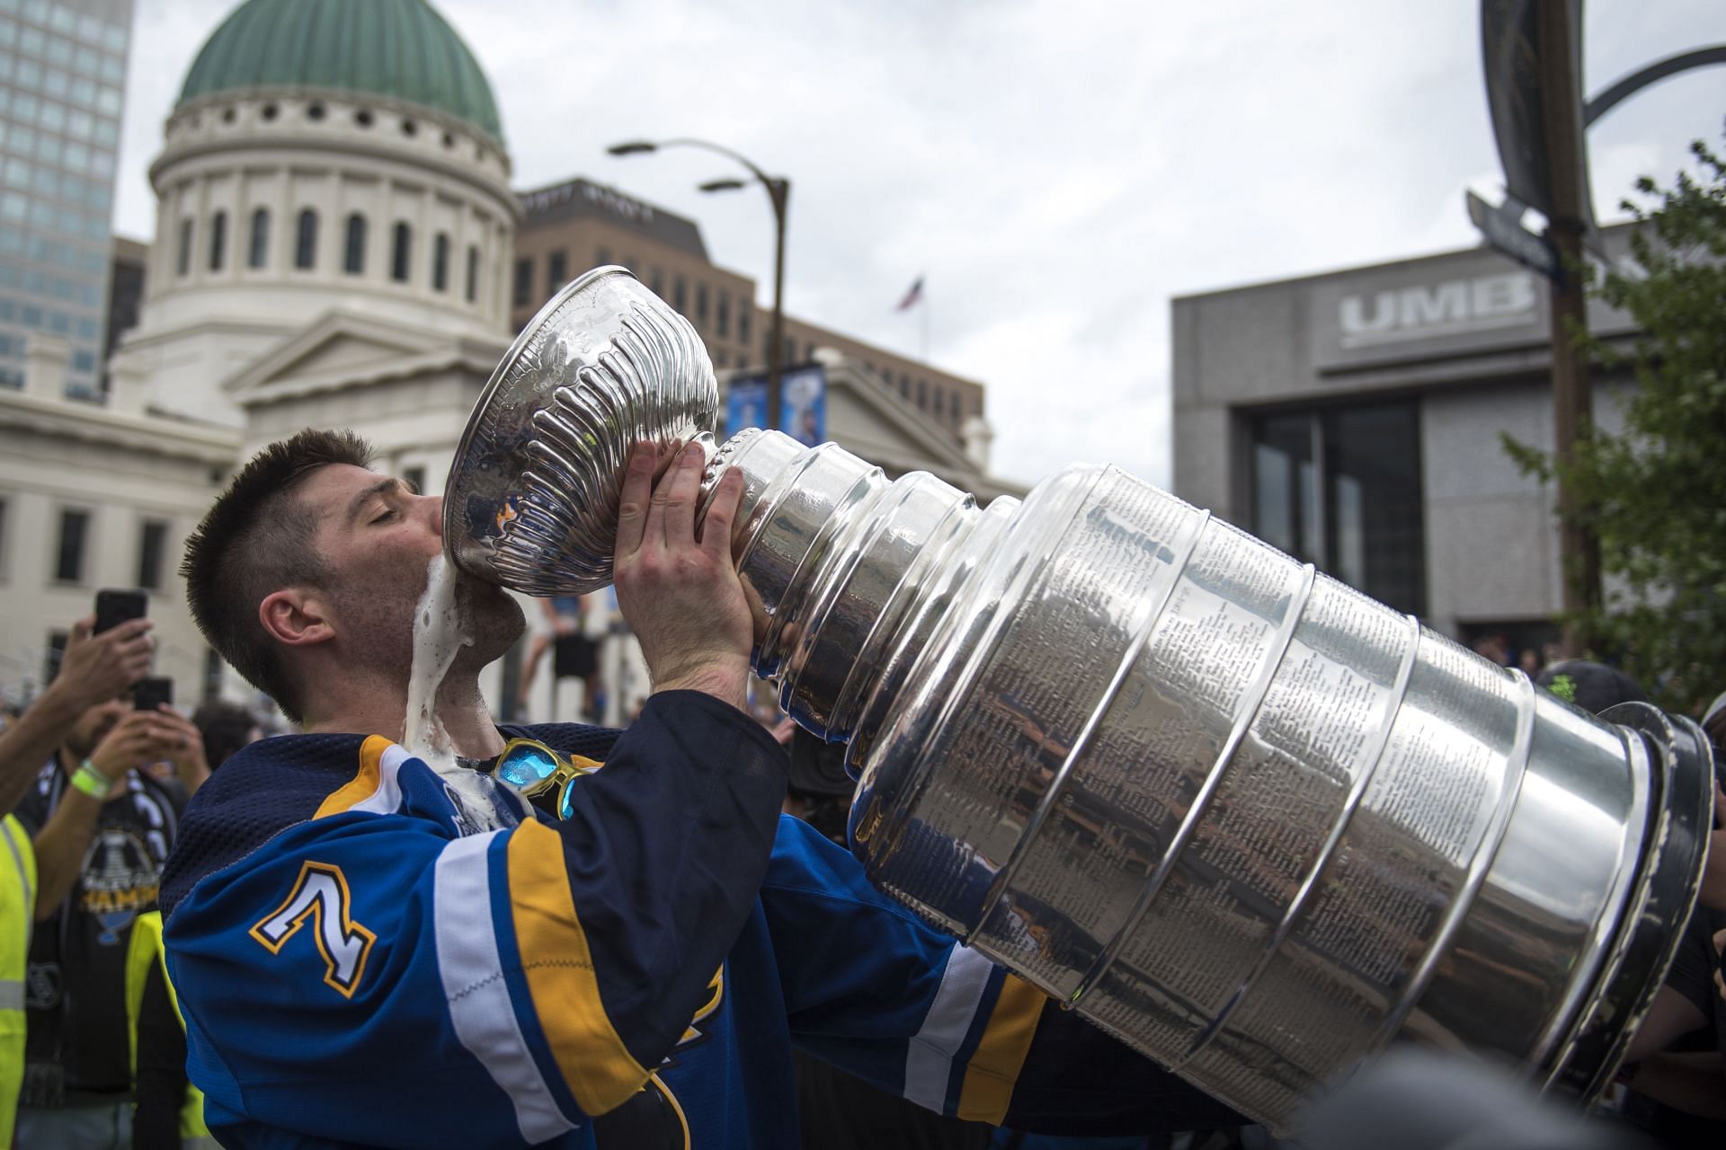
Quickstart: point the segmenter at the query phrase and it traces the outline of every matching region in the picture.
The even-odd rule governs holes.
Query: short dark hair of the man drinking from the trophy
[[[217,497],[180,564],[204,638],[293,722],[304,719],[304,698],[288,681],[257,605],[285,586],[324,586],[328,569],[312,547],[318,519],[293,488],[331,464],[371,467],[371,445],[352,431],[311,428],[271,443]]]

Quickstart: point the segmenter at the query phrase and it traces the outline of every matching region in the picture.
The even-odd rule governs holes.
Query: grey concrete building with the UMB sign
[[[1553,493],[1500,441],[1552,450],[1546,291],[1481,247],[1177,298],[1175,491],[1464,643],[1557,640]]]

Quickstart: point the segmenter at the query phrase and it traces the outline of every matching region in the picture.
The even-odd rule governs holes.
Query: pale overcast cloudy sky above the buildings
[[[1169,300],[1476,243],[1498,186],[1474,0],[435,0],[497,93],[516,186],[587,176],[699,221],[772,290],[765,193],[699,136],[792,181],[787,310],[922,352],[894,305],[925,278],[930,359],[989,388],[994,471],[1032,483],[1169,466]],[[116,207],[145,178],[235,0],[138,0]],[[1726,43],[1719,0],[1586,0],[1584,90]],[[1721,140],[1726,67],[1659,84],[1590,133],[1610,216],[1693,138]]]

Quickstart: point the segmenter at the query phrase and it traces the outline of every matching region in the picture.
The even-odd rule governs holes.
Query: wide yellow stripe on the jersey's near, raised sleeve
[[[604,1114],[628,1102],[647,1071],[606,1017],[557,833],[523,822],[511,831],[507,852],[509,905],[533,1014],[576,1105]]]

